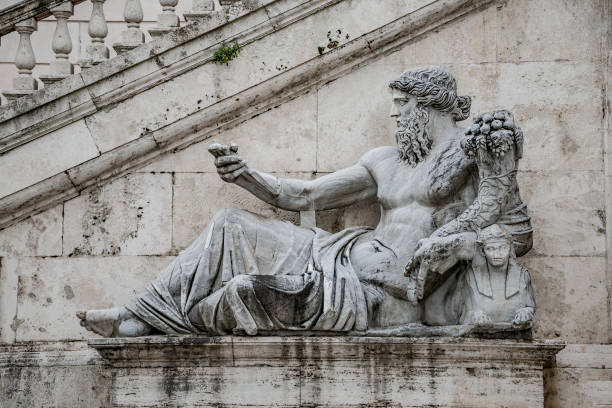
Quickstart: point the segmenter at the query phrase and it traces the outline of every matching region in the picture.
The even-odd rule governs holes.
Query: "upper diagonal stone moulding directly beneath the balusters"
[[[0,106],[0,154],[210,62],[215,49],[223,41],[231,42],[236,39],[242,46],[247,45],[340,1],[342,0],[302,1],[298,6],[270,18],[266,12],[268,6],[292,3],[295,0],[268,0],[249,13],[213,27],[198,23],[189,24],[31,95]],[[229,31],[229,35],[224,31]],[[179,47],[195,41],[208,44],[188,56],[176,52]],[[139,75],[138,69],[145,63],[150,63],[153,70]],[[129,75],[131,72],[135,77],[130,78],[127,85],[124,85],[126,81],[116,83],[113,79],[118,73]],[[97,89],[105,91],[98,93]],[[83,91],[89,93],[88,100],[82,102],[89,109],[81,109],[82,112],[74,113],[72,117],[66,115],[69,102],[75,99],[73,95],[82,94]],[[67,103],[58,104],[62,100]],[[49,108],[52,104],[59,106]],[[40,126],[38,123],[24,125],[23,122],[33,122],[31,119],[22,119],[24,116],[35,116],[38,122],[46,122],[49,126]]]

